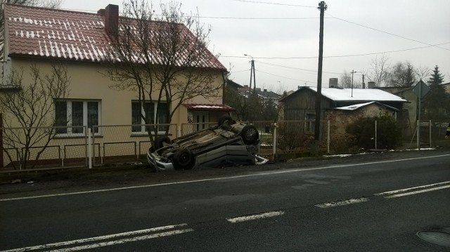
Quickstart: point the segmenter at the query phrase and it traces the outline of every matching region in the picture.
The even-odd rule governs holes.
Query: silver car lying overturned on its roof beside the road
[[[158,171],[188,170],[197,166],[265,164],[257,155],[259,133],[253,125],[221,117],[217,126],[170,140],[159,136],[147,152],[147,161]]]

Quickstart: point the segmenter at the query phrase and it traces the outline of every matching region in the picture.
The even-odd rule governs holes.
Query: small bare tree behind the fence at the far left
[[[53,99],[67,98],[70,78],[67,67],[52,65],[45,73],[36,65],[30,66],[30,83],[23,80],[24,69],[13,69],[8,76],[11,91],[0,95],[0,105],[4,114],[3,146],[18,150],[20,168],[28,168],[35,154],[35,161],[56,135]],[[20,128],[13,128],[14,126]],[[6,152],[11,162],[13,157]],[[34,167],[36,162],[31,164]]]

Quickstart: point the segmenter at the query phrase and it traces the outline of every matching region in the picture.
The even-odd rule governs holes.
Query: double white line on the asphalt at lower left
[[[164,227],[153,227],[153,228],[149,228],[146,230],[136,230],[136,231],[131,231],[131,232],[122,232],[122,233],[118,233],[118,234],[108,234],[108,235],[103,235],[100,237],[90,237],[90,238],[77,239],[77,240],[72,240],[72,241],[56,242],[53,244],[43,244],[43,245],[29,246],[29,247],[24,247],[24,248],[14,248],[14,249],[9,249],[9,250],[0,251],[0,252],[35,251],[35,250],[42,250],[42,249],[45,249],[46,251],[50,251],[50,249],[52,249],[51,251],[60,251],[60,252],[84,251],[84,250],[90,249],[90,248],[113,246],[113,245],[117,245],[117,244],[124,244],[124,243],[131,242],[131,241],[142,241],[142,240],[146,240],[146,239],[167,237],[170,235],[183,234],[186,232],[194,231],[191,228],[179,229],[180,227],[186,227],[186,226],[187,226],[186,223],[178,224],[178,225],[167,225]],[[175,229],[175,230],[172,230],[172,229]],[[170,230],[170,231],[158,233],[158,231],[164,231],[164,230]],[[157,232],[157,233],[148,234],[151,232]],[[136,236],[138,234],[146,234],[146,235]],[[124,238],[124,237],[127,237],[127,238]],[[117,238],[123,238],[123,239],[117,239]],[[108,239],[110,241],[105,241]],[[98,242],[98,241],[102,241],[102,242]],[[85,245],[79,246],[80,244],[85,244]],[[72,245],[76,245],[76,246],[72,246]],[[69,246],[72,246],[72,247],[69,247]]]

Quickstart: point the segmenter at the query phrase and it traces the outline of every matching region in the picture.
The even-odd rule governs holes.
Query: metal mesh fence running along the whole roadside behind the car
[[[315,142],[314,121],[276,123],[253,121],[251,124],[259,131],[259,154],[265,157],[276,158],[281,155],[298,157],[305,152],[311,152],[311,146]],[[3,147],[0,165],[5,169],[21,170],[30,167],[88,167],[89,164],[100,166],[142,161],[150,147],[150,137],[146,131],[165,135],[167,130],[169,138],[176,138],[214,125],[217,123],[110,125],[76,129],[75,127],[0,128],[0,146]],[[418,125],[418,131],[416,129],[411,138],[413,147],[416,147],[417,135],[419,135],[418,147],[435,145],[437,140],[444,138],[448,122],[420,121]],[[57,134],[47,142],[46,133]],[[375,132],[368,133],[371,134],[375,136],[376,148],[376,127]],[[322,121],[318,151],[337,152],[333,146],[341,142],[342,140],[330,138],[330,121]]]

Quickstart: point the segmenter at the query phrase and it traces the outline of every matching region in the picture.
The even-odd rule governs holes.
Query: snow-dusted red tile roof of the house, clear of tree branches
[[[103,15],[14,4],[4,11],[10,56],[100,62],[110,48]],[[226,70],[210,51],[199,65]]]

